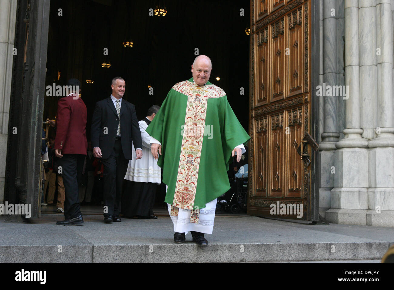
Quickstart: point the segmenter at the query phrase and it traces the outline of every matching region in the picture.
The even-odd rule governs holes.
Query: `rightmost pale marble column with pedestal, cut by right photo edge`
[[[374,136],[369,141],[367,225],[394,226],[393,15],[392,0],[377,0]]]

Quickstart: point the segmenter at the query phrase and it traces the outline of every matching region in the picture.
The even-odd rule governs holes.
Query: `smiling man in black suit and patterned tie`
[[[111,88],[112,95],[96,103],[91,126],[93,155],[104,165],[104,223],[121,222],[122,184],[132,159],[132,142],[136,159],[142,157],[136,109],[123,99],[125,80],[113,78]]]

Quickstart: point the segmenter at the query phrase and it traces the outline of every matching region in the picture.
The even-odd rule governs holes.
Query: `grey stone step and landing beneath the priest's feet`
[[[258,217],[216,217],[208,246],[173,243],[169,217],[57,226],[61,216],[0,223],[0,262],[317,262],[380,260],[394,243],[391,228],[308,225]],[[0,221],[4,221],[2,217]]]

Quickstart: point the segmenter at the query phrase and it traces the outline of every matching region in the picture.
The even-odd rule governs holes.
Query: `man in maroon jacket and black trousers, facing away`
[[[78,200],[78,185],[82,176],[86,140],[86,106],[79,97],[81,83],[77,79],[69,79],[67,86],[73,88],[69,95],[58,101],[58,117],[56,119],[55,155],[59,157],[58,165],[63,174],[65,188],[64,221],[56,225],[83,225],[84,219]],[[70,87],[72,86],[72,87]]]

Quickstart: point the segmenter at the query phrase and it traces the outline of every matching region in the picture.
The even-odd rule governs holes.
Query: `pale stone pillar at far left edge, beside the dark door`
[[[0,0],[0,203],[4,200],[16,13],[17,0]]]

